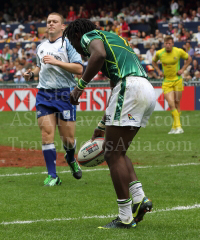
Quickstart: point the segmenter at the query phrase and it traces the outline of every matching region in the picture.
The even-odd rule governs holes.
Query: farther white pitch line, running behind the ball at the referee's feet
[[[159,165],[159,166],[137,166],[135,165],[134,168],[162,168],[162,167],[182,167],[182,166],[196,166],[200,165],[200,163],[178,163],[178,164],[170,164],[170,165]],[[86,169],[82,170],[83,172],[95,172],[95,171],[108,171],[108,168],[94,168],[94,169]],[[70,171],[61,171],[58,172],[58,174],[61,173],[71,173]],[[30,172],[30,173],[13,173],[13,174],[0,174],[0,177],[18,177],[18,176],[29,176],[29,175],[37,175],[37,174],[47,174],[47,172]]]

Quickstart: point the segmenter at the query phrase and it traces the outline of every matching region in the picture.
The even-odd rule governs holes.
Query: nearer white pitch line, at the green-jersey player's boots
[[[193,206],[178,206],[173,208],[166,208],[166,209],[158,209],[152,213],[158,212],[169,212],[169,211],[181,211],[181,210],[190,210],[194,208],[200,208],[200,204],[195,204]],[[56,222],[56,221],[74,221],[74,220],[81,220],[81,219],[94,219],[94,218],[114,218],[116,215],[95,215],[95,216],[83,216],[79,218],[53,218],[53,219],[38,219],[38,220],[28,220],[28,221],[13,221],[13,222],[1,222],[0,225],[13,225],[13,224],[30,224],[30,223],[37,223],[37,222]]]

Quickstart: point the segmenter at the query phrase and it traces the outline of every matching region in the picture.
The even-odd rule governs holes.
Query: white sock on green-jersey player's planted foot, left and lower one
[[[119,207],[119,217],[124,223],[130,223],[133,220],[131,198],[128,199],[117,199],[117,204]]]

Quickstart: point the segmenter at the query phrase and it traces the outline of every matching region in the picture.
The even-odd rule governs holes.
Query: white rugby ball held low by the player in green
[[[78,152],[78,162],[84,167],[95,167],[104,162],[104,138],[87,141]]]

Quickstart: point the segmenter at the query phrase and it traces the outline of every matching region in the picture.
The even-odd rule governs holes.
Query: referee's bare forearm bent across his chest
[[[67,72],[81,75],[83,73],[83,66],[80,63],[66,63],[57,60],[54,56],[46,55],[43,57],[43,62],[45,64],[51,64],[64,69]]]

